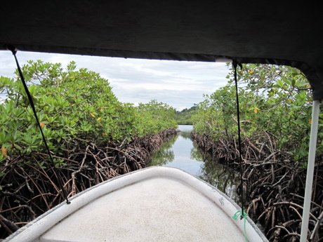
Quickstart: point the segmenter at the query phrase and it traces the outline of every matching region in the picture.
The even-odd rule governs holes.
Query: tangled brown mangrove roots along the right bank
[[[192,133],[192,138],[200,149],[215,158],[214,161],[239,169],[237,144],[214,142],[211,137],[196,133]],[[242,150],[245,151],[246,147]],[[305,167],[289,159],[287,153],[276,152],[275,155],[264,154],[256,161],[243,159],[242,170],[246,213],[253,221],[261,223],[270,241],[298,241],[303,213]],[[315,166],[309,224],[312,241],[317,242],[323,241],[322,173],[322,162],[318,161]]]

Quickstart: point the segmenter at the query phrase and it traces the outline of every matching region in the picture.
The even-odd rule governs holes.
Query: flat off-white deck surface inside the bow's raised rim
[[[210,199],[165,177],[96,199],[42,236],[43,241],[244,241]],[[228,239],[230,238],[230,239]]]

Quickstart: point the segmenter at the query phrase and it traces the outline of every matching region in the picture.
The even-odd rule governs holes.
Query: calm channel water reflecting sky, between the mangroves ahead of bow
[[[152,166],[180,168],[209,182],[239,204],[239,196],[237,195],[239,175],[216,162],[204,161],[202,153],[191,140],[192,128],[193,126],[178,126],[181,132],[165,142],[152,156]]]

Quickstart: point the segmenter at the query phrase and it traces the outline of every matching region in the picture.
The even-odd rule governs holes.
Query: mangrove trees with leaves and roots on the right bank
[[[218,161],[238,167],[237,108],[233,73],[228,85],[205,95],[193,116],[193,137]],[[244,65],[238,72],[244,192],[247,213],[265,227],[270,241],[296,241],[300,233],[308,158],[312,98],[298,69],[275,65]],[[319,114],[322,118],[322,114]],[[323,213],[323,121],[319,121],[317,166],[310,231]],[[322,225],[322,224],[321,224]],[[321,226],[322,229],[322,226]]]

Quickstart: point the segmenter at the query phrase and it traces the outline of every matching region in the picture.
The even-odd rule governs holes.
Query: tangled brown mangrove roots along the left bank
[[[22,165],[23,157],[11,157],[6,163],[0,163],[1,170],[6,171],[6,175],[1,176],[0,238],[6,238],[65,200],[57,187],[55,174],[60,176],[67,196],[74,196],[112,177],[145,168],[152,151],[177,133],[176,128],[170,128],[157,135],[138,137],[132,142],[124,140],[105,147],[91,143],[68,158],[60,157],[65,165],[55,168],[55,173],[47,165]],[[46,154],[34,154],[35,162],[38,156],[45,157]]]

